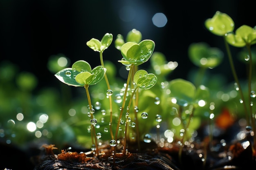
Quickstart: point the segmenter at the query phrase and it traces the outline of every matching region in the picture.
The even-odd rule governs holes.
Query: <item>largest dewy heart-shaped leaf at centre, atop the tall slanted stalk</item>
[[[118,61],[124,65],[134,64],[136,66],[148,61],[155,49],[155,42],[152,40],[143,40],[139,44],[135,42],[126,42],[121,47],[121,54],[124,60]]]

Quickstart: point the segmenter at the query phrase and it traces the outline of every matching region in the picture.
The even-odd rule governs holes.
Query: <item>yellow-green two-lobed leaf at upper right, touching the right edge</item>
[[[243,47],[246,44],[256,43],[256,30],[250,26],[242,25],[237,30],[236,33],[229,33],[225,36],[227,42],[236,47]]]

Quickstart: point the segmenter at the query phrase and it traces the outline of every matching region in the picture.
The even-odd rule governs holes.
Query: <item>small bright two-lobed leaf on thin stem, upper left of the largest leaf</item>
[[[94,51],[103,52],[110,46],[113,40],[113,35],[110,33],[106,33],[101,41],[98,39],[92,38],[90,41],[86,42],[86,45],[89,46]]]

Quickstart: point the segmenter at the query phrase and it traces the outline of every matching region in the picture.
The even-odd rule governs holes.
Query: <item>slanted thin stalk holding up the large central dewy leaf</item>
[[[127,95],[128,86],[129,86],[129,83],[130,83],[130,78],[131,78],[131,73],[132,73],[131,70],[132,69],[133,69],[133,64],[130,66],[130,70],[129,70],[127,81],[126,81],[126,88],[125,88],[125,91],[124,91],[123,104],[121,106],[121,111],[120,111],[118,122],[117,122],[117,129],[116,129],[116,133],[115,133],[115,141],[117,141],[117,135],[118,135],[118,130],[119,130],[119,126],[120,126],[120,121],[121,121],[121,118],[122,118],[122,115],[123,115],[123,112],[124,112],[124,106],[125,106],[125,103],[126,103],[126,95]],[[115,153],[116,153],[116,151],[117,151],[117,146],[115,146],[115,150],[114,150],[114,163],[115,163]]]

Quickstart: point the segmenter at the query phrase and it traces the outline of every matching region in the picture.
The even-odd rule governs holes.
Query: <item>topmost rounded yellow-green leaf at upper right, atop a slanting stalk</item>
[[[213,34],[224,36],[226,33],[234,30],[234,21],[226,13],[216,11],[213,18],[209,18],[204,22],[206,28]]]

